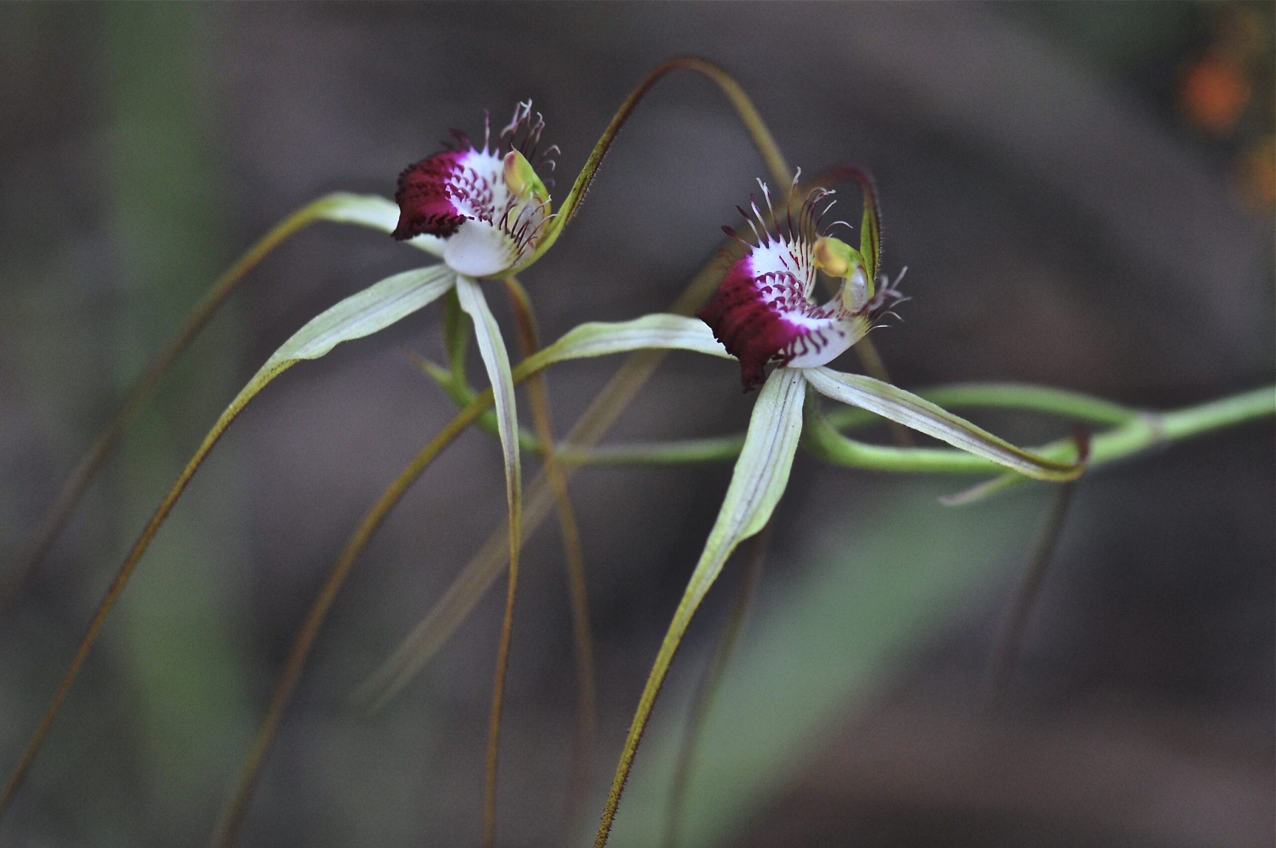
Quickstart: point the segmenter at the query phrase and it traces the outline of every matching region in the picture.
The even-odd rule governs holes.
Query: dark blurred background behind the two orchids
[[[1173,408],[1272,379],[1271,4],[5,4],[5,567],[131,377],[276,221],[332,190],[390,194],[450,128],[478,133],[485,107],[504,119],[527,97],[563,149],[561,198],[630,87],[684,52],[736,74],[808,173],[850,161],[877,175],[884,267],[909,267],[914,298],[874,337],[901,385],[1023,380]],[[544,335],[664,309],[763,173],[706,80],[662,82],[526,275]],[[236,388],[319,310],[420,261],[370,231],[314,227],[181,360],[0,616],[4,769]],[[0,844],[207,839],[322,575],[453,412],[403,347],[440,356],[436,309],[295,369],[235,425],[108,621]],[[559,432],[615,365],[553,372]],[[609,439],[738,431],[752,402],[730,363],[675,355]],[[1025,441],[1065,432],[975,417]],[[573,481],[601,720],[578,842],[729,471]],[[951,510],[935,496],[961,481],[800,455],[684,844],[1271,845],[1272,472],[1265,422],[1087,477],[989,713],[979,682],[1051,492]],[[503,509],[495,441],[470,434],[394,513],[320,636],[241,844],[477,843],[501,593],[384,712],[347,698]],[[553,524],[524,575],[498,831],[510,847],[569,842],[574,682]],[[736,578],[729,566],[675,664],[618,847],[658,843]]]

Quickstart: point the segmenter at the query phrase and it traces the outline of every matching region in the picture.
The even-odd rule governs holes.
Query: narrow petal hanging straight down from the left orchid
[[[518,547],[522,541],[523,479],[518,458],[518,409],[514,402],[514,376],[509,353],[500,337],[500,326],[487,307],[482,288],[468,277],[457,278],[461,309],[473,319],[478,356],[487,369],[494,393],[496,427],[501,454],[505,458],[505,502],[509,506],[509,590],[505,596],[505,617],[496,654],[496,681],[491,695],[491,720],[487,731],[487,779],[484,803],[484,844],[494,840],[496,826],[496,764],[500,749],[500,714],[505,696],[505,672],[509,669],[509,644],[514,625],[514,597],[518,589]]]

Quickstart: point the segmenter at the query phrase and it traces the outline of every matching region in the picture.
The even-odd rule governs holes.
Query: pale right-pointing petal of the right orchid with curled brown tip
[[[874,412],[976,457],[1036,479],[1076,479],[1082,465],[1048,459],[1016,448],[965,418],[896,386],[827,367],[805,369],[812,386],[835,400]]]

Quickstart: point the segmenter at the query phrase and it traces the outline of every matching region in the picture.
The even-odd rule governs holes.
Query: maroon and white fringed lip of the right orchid
[[[731,263],[717,292],[697,312],[727,352],[740,360],[745,391],[762,384],[767,362],[800,369],[827,365],[902,300],[891,284],[874,293],[873,272],[860,251],[819,235],[820,219],[833,205],[822,203],[832,191],[812,190],[796,217],[786,209],[780,221],[767,185],[760,180],[759,185],[767,203],[766,218],[755,198],[749,203],[752,214],[740,209],[757,245],[730,227],[722,228],[744,255]],[[838,293],[822,306],[812,301],[820,270],[842,279]]]

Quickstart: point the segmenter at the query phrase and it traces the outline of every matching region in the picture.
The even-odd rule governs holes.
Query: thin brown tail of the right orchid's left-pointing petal
[[[350,570],[353,567],[355,560],[359,557],[359,552],[364,550],[369,538],[371,538],[373,533],[375,533],[382,525],[385,516],[389,515],[392,509],[394,509],[399,499],[403,497],[403,493],[407,492],[413,482],[416,482],[417,477],[420,477],[425,469],[429,468],[430,463],[434,462],[444,448],[452,444],[452,441],[459,436],[466,427],[473,423],[484,409],[491,406],[491,402],[493,393],[491,389],[487,389],[476,397],[464,409],[458,412],[456,417],[439,431],[439,435],[431,439],[430,442],[412,458],[412,462],[407,464],[394,482],[390,483],[384,492],[382,492],[382,496],[378,497],[373,508],[367,510],[364,520],[360,522],[359,528],[346,543],[341,557],[328,573],[328,578],[320,587],[319,594],[315,597],[314,603],[306,612],[306,618],[301,625],[301,630],[297,631],[296,638],[292,640],[292,647],[288,649],[288,658],[285,661],[279,677],[274,684],[274,689],[271,691],[271,700],[267,704],[265,714],[262,717],[262,722],[258,724],[256,733],[253,737],[253,743],[240,764],[239,775],[235,779],[235,788],[231,791],[231,797],[218,817],[217,829],[212,839],[212,844],[214,847],[225,848],[235,842],[235,835],[244,819],[249,798],[253,796],[253,787],[262,773],[262,764],[265,761],[265,754],[279,728],[279,720],[283,717],[283,710],[287,708],[288,700],[292,698],[292,691],[296,689],[297,680],[301,677],[301,669],[305,667],[306,658],[310,655],[310,649],[314,647],[315,638],[319,635],[319,629],[328,617],[328,611],[332,608],[333,601],[337,598],[337,593],[341,590],[346,578],[350,575]]]

